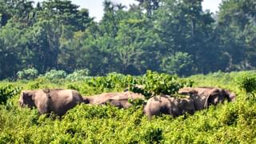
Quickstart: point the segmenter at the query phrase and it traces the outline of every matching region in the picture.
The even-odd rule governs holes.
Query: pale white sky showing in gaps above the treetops
[[[34,0],[35,3],[42,2],[43,0]],[[72,0],[72,2],[82,8],[89,10],[90,16],[96,18],[99,21],[103,15],[103,3],[104,0]],[[130,3],[136,3],[134,0],[111,0],[112,2],[122,3],[129,6]],[[222,0],[204,0],[202,2],[202,9],[209,9],[211,12],[218,11],[218,5]]]

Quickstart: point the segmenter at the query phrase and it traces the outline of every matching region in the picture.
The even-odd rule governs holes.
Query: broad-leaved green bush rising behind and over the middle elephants
[[[120,91],[128,88],[147,98],[154,94],[175,94],[184,86],[192,86],[190,78],[178,78],[177,75],[159,74],[148,70],[142,77],[110,73],[106,77],[95,77],[86,81],[86,85],[97,87],[100,91]],[[143,86],[143,88],[138,87]]]

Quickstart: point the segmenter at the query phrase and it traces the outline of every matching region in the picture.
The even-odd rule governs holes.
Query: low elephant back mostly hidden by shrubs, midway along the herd
[[[83,98],[84,102],[87,104],[105,105],[106,103],[110,103],[111,106],[117,106],[119,108],[129,108],[132,106],[129,99],[145,99],[142,94],[137,94],[131,91],[103,93]]]

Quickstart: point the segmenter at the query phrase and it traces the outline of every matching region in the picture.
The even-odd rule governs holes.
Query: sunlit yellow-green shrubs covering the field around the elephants
[[[18,82],[0,82],[0,98],[7,104],[0,105],[0,143],[254,143],[256,142],[256,104],[246,98],[246,91],[239,82],[246,81],[251,72],[213,73],[194,75],[194,86],[219,86],[237,94],[233,103],[210,106],[194,115],[171,118],[168,115],[148,120],[142,106],[128,110],[112,106],[81,104],[70,110],[63,118],[38,115],[35,109],[18,106],[19,92],[23,89],[79,88],[82,95],[101,94],[103,91],[121,91],[122,82],[146,75],[168,78],[166,74],[148,72],[142,77],[109,74],[82,81],[38,78]],[[176,76],[169,75],[170,78]],[[251,77],[249,76],[248,79]],[[154,80],[154,79],[152,79]],[[110,82],[110,86],[106,83]],[[93,82],[91,84],[91,82]],[[130,81],[133,82],[133,81]],[[119,86],[120,84],[120,86]],[[8,86],[7,86],[8,85]],[[7,86],[7,87],[6,87]],[[102,88],[102,86],[107,86]],[[152,86],[153,87],[153,86]]]

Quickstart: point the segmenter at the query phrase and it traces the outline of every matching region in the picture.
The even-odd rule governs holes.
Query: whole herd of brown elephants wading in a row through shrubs
[[[169,114],[177,117],[182,114],[194,114],[196,110],[208,108],[227,100],[234,102],[236,96],[230,90],[217,87],[185,87],[178,90],[178,94],[186,98],[177,98],[170,95],[160,94],[147,100],[142,94],[131,91],[117,93],[103,93],[93,96],[84,96],[77,90],[46,89],[46,90],[22,90],[18,102],[20,106],[36,107],[39,114],[50,114],[54,112],[59,116],[66,114],[79,103],[90,105],[105,105],[127,109],[133,106],[129,99],[145,100],[144,114],[148,118],[159,114]]]

